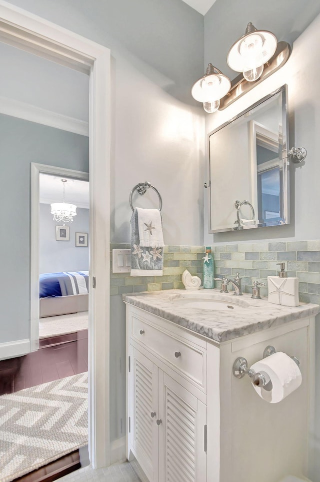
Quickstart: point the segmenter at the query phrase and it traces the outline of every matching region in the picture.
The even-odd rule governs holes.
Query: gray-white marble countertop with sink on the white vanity
[[[184,297],[188,299],[185,301]],[[192,307],[193,301],[199,298],[205,298],[208,302],[226,301],[229,308]],[[122,299],[125,303],[142,308],[219,343],[314,316],[320,308],[319,305],[311,303],[300,303],[296,307],[282,306],[269,303],[266,298],[251,299],[248,293],[243,293],[243,296],[221,294],[218,289],[148,291],[123,294]]]

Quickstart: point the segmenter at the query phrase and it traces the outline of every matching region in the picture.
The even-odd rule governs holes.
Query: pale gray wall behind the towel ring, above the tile
[[[181,0],[11,3],[111,50],[111,242],[129,241],[128,196],[147,180],[165,243],[201,244],[203,111],[190,88],[203,74],[203,16]]]

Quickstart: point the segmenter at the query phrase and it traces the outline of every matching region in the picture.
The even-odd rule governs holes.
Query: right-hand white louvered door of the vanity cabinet
[[[159,481],[206,482],[206,406],[159,369]]]

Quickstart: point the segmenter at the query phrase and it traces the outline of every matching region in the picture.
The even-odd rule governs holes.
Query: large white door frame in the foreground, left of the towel
[[[110,51],[0,0],[0,42],[89,75],[89,458],[109,465]]]

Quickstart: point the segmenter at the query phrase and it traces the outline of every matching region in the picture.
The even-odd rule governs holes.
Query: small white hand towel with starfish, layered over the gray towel
[[[140,246],[161,248],[164,246],[161,214],[158,209],[136,208]]]

